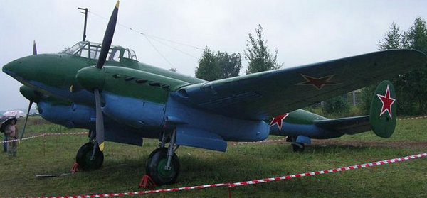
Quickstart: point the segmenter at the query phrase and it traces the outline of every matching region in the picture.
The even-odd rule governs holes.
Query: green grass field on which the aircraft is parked
[[[31,118],[30,124],[28,136],[38,132],[70,132],[38,118]],[[158,189],[256,180],[425,153],[426,128],[427,119],[398,121],[394,136],[389,139],[378,138],[373,133],[343,136],[315,141],[304,153],[293,153],[290,144],[284,142],[229,143],[226,153],[183,146],[176,152],[181,162],[178,182]],[[35,177],[70,172],[77,149],[86,141],[85,135],[33,138],[19,145],[16,158],[2,153],[0,197],[143,190],[137,185],[145,172],[145,160],[156,147],[157,140],[144,140],[142,147],[107,142],[100,170],[60,177]],[[142,197],[228,197],[228,187]],[[427,159],[233,187],[231,197],[427,197]]]

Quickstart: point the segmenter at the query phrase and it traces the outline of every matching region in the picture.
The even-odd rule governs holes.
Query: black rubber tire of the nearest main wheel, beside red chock
[[[175,153],[171,161],[172,170],[164,170],[165,165],[167,165],[167,148],[157,148],[147,159],[145,170],[157,186],[170,185],[178,178],[179,158]]]

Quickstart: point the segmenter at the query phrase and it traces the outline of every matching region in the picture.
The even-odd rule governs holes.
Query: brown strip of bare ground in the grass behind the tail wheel
[[[244,145],[244,144],[266,144],[266,143],[289,143],[286,138],[270,139],[259,142],[240,142],[231,143],[230,145]],[[312,140],[311,145],[339,145],[339,146],[352,146],[352,147],[392,147],[392,148],[427,148],[427,141],[337,141],[337,140]]]

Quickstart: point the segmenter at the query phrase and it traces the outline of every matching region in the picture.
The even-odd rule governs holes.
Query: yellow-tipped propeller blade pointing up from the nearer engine
[[[119,11],[119,1],[117,1],[117,4],[114,10],[112,10],[110,21],[108,21],[107,29],[105,30],[104,39],[102,40],[102,45],[101,45],[100,57],[98,58],[98,62],[96,65],[97,68],[102,68],[102,66],[105,63],[105,60],[107,60],[108,51],[110,50],[110,47],[111,47],[112,36],[114,35],[114,31],[115,31],[118,11]]]

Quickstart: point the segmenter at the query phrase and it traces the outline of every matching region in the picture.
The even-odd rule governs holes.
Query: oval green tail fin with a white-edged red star
[[[372,131],[376,136],[389,138],[396,127],[396,92],[388,80],[376,87],[369,114]]]

